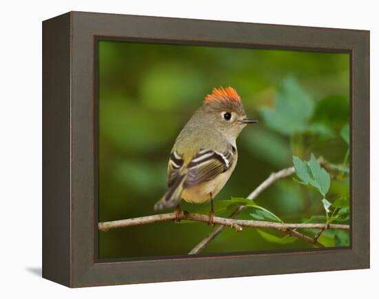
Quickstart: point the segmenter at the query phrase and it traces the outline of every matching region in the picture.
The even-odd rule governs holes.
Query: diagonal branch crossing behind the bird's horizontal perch
[[[252,193],[250,193],[249,196],[247,196],[247,198],[254,199],[254,198],[258,197],[258,195],[261,194],[267,187],[269,187],[270,185],[272,185],[276,181],[280,180],[280,178],[287,178],[287,176],[291,176],[294,173],[295,173],[295,167],[288,167],[288,168],[280,170],[279,172],[274,172],[274,173],[270,174],[270,176],[268,178],[266,178],[265,181],[260,183],[260,185],[258,187],[256,187],[256,189],[254,189],[254,191]],[[232,214],[230,214],[229,218],[236,218],[236,216],[238,216],[238,214],[240,214],[240,212],[242,212],[245,208],[246,208],[245,206],[238,207],[238,209],[236,209]],[[225,229],[225,227],[223,227],[223,226],[220,226],[220,227],[217,227],[216,229],[214,229],[214,231],[212,231],[212,233],[210,233],[208,236],[203,238],[203,240],[201,240],[200,243],[198,243],[198,245],[196,245],[196,247],[194,247],[194,249],[189,251],[189,254],[198,254],[212,240],[214,240],[214,238],[216,238],[216,236],[218,236],[218,234],[220,234],[221,231],[223,231],[224,229]],[[300,233],[298,233],[298,234],[300,234]],[[303,236],[305,236],[305,235],[303,235]],[[309,238],[309,239],[311,239],[311,238]],[[303,240],[304,240],[304,238],[303,238]]]

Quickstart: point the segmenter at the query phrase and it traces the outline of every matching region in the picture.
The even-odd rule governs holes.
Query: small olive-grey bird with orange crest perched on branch
[[[213,225],[213,198],[236,167],[236,138],[249,123],[243,104],[232,87],[214,88],[176,138],[167,169],[167,192],[154,209],[211,200],[209,224]]]

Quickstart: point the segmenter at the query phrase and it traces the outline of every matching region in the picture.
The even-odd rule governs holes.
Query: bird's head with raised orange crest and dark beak
[[[212,94],[205,96],[201,111],[207,118],[207,125],[215,126],[216,130],[234,139],[247,124],[258,122],[246,117],[240,96],[232,87],[214,88]]]

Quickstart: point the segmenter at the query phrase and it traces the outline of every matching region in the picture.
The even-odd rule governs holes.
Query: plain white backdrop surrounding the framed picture
[[[375,133],[379,123],[378,101],[373,100],[378,96],[379,82],[376,1],[55,2],[8,0],[1,4],[1,298],[356,298],[365,296],[369,291],[378,293],[378,238],[373,238],[379,236],[378,220],[375,223],[372,220],[373,216],[378,215],[379,192],[375,188],[372,188],[371,193],[371,270],[85,289],[68,289],[40,277],[43,19],[69,10],[84,10],[371,30],[371,132]],[[371,136],[372,186],[378,182],[379,176],[377,136]]]

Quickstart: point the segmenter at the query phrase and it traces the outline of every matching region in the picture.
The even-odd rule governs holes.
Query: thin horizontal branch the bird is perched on
[[[108,231],[110,229],[131,227],[136,225],[145,225],[149,223],[157,223],[168,220],[192,220],[208,223],[209,215],[195,214],[189,212],[157,214],[152,216],[143,216],[137,218],[99,223],[99,230]],[[241,230],[240,227],[271,228],[278,229],[279,231],[287,231],[288,229],[325,229],[325,223],[274,223],[268,221],[240,220],[216,216],[214,216],[213,218],[213,223],[227,227],[234,227],[237,231]],[[349,225],[331,224],[327,227],[327,229],[349,229]],[[296,233],[299,234],[297,231]]]

